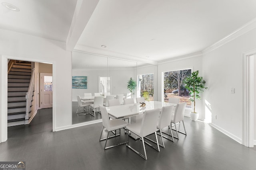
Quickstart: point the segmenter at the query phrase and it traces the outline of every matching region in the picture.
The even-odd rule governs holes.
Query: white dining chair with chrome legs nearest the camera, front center
[[[159,116],[159,112],[160,112],[160,109],[147,110],[143,114],[142,122],[126,125],[126,146],[128,148],[132,149],[134,152],[136,152],[138,155],[140,155],[145,160],[148,159],[147,154],[146,154],[145,143],[148,144],[150,147],[156,149],[158,152],[160,152],[159,145],[158,145],[158,139],[156,136],[156,131],[158,130],[156,127],[157,127],[157,119]],[[143,150],[144,150],[144,156],[129,145],[129,142],[128,142],[128,132],[129,131],[141,138]],[[155,133],[157,148],[153,147],[148,142],[144,141],[144,137],[151,135],[152,133]]]

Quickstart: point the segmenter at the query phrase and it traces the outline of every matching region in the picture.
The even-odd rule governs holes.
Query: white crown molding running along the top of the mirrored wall
[[[80,51],[80,52],[83,51],[83,52],[93,53],[95,55],[100,55],[100,56],[104,56],[104,57],[112,57],[112,58],[124,59],[124,60],[129,60],[129,61],[137,61],[140,63],[157,64],[156,61],[142,59],[139,57],[133,57],[133,56],[124,55],[124,54],[120,54],[120,53],[115,53],[113,51],[96,49],[93,47],[88,47],[88,46],[80,45],[80,44],[77,44],[73,51]]]

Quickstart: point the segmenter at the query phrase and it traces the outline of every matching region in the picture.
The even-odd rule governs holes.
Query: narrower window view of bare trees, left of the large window
[[[138,75],[138,92],[146,101],[154,100],[154,74]]]

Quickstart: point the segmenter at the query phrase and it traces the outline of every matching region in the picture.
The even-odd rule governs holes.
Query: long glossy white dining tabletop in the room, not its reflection
[[[143,114],[146,110],[162,109],[163,106],[176,106],[174,103],[150,101],[145,102],[146,106],[141,107],[141,104],[126,104],[118,106],[106,107],[108,114],[116,119],[132,117],[135,115]]]

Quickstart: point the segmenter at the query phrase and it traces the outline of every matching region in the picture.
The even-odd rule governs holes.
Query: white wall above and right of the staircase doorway
[[[14,59],[27,61],[53,63],[54,76],[54,106],[55,115],[54,128],[58,130],[72,124],[72,102],[71,99],[71,62],[70,51],[64,50],[65,43],[43,39],[40,37],[25,35],[13,31],[0,29],[0,55],[12,56]],[[2,61],[1,61],[2,62]],[[2,63],[0,63],[2,65]],[[2,74],[2,70],[1,70]],[[3,91],[4,83],[1,82],[0,95],[5,95]],[[2,101],[0,101],[2,104]],[[6,107],[6,106],[2,106]],[[1,114],[5,114],[2,113]]]

